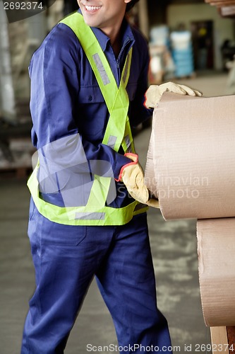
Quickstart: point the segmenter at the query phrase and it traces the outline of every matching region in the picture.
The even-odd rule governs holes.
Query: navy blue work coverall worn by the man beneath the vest
[[[124,20],[121,51],[116,59],[107,35],[98,28],[92,30],[118,85],[124,60],[133,46],[127,91],[131,125],[138,125],[151,114],[143,105],[147,44]],[[130,160],[121,151],[116,153],[101,144],[109,119],[107,106],[78,38],[63,23],[52,29],[33,55],[30,79],[34,146],[41,149],[49,142],[78,133],[88,161],[109,161],[118,178],[121,166]],[[112,206],[133,201],[123,183],[116,183],[116,190]],[[59,193],[42,193],[42,198],[61,204]],[[135,353],[159,353],[163,346],[171,345],[167,321],[157,309],[146,213],[122,226],[68,226],[40,215],[31,200],[28,235],[36,290],[25,321],[22,354],[64,353],[94,275],[112,314],[119,346],[157,346],[151,352],[142,347]]]

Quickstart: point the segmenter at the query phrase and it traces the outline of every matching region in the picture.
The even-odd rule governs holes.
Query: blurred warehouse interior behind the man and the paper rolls
[[[28,64],[49,30],[77,7],[76,0],[56,0],[35,16],[9,23],[0,0],[2,354],[20,353],[28,299],[35,286],[27,238],[30,195],[26,179],[34,153]],[[150,84],[170,80],[205,96],[235,94],[235,0],[140,0],[128,16],[149,42]],[[149,125],[140,126],[135,135],[143,166],[150,131]],[[159,308],[169,320],[172,345],[180,346],[180,353],[194,353],[196,344],[210,344],[200,304],[195,221],[164,222],[159,210],[150,210],[148,218]],[[88,343],[116,343],[112,319],[94,282],[77,322],[66,353],[86,353]],[[210,347],[203,353],[211,353]]]

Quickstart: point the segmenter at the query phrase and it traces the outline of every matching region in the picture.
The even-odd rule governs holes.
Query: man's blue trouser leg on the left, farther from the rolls
[[[109,248],[110,227],[98,233],[97,227],[58,225],[35,208],[28,234],[36,290],[30,299],[21,353],[64,353],[90,282]]]

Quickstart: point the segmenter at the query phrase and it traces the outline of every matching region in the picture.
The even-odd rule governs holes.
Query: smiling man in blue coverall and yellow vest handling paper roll
[[[78,0],[80,11],[52,29],[30,62],[39,164],[28,235],[37,287],[22,354],[64,353],[94,276],[119,346],[130,348],[121,353],[171,353],[147,233],[146,204],[156,201],[130,127],[151,114],[143,105],[147,44],[124,18],[137,1]],[[154,87],[150,101],[187,91],[172,85]]]

